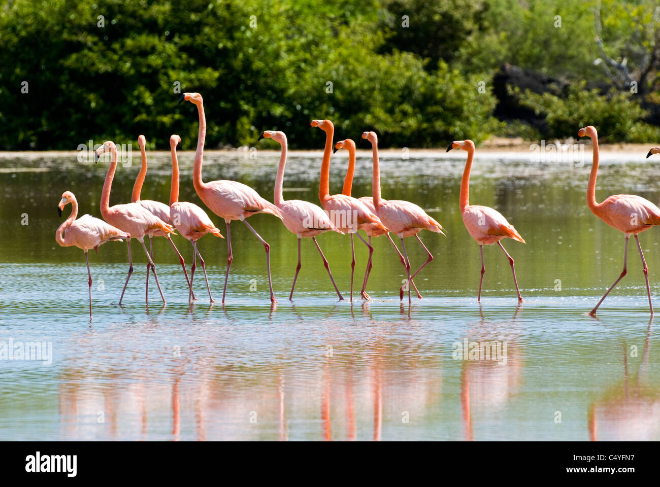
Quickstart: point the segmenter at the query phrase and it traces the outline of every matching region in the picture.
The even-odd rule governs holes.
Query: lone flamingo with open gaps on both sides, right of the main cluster
[[[453,148],[458,148],[467,152],[467,162],[465,162],[465,170],[463,170],[463,178],[461,179],[461,195],[460,205],[461,214],[463,215],[463,224],[467,228],[467,232],[479,244],[479,252],[481,254],[481,278],[479,280],[479,294],[477,295],[477,302],[481,302],[481,284],[484,282],[484,245],[492,245],[497,243],[500,249],[504,252],[513,273],[513,284],[515,284],[515,292],[518,293],[518,302],[523,302],[523,297],[520,295],[518,289],[518,280],[515,278],[515,267],[513,266],[513,257],[504,249],[500,240],[503,238],[511,238],[525,244],[525,240],[513,228],[513,225],[506,221],[502,214],[492,208],[482,207],[479,205],[470,205],[470,170],[472,169],[472,160],[475,156],[475,143],[471,140],[466,141],[453,141],[447,147],[447,152]]]

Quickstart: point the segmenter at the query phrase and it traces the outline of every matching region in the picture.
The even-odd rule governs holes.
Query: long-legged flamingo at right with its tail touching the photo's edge
[[[637,234],[648,230],[654,225],[660,224],[660,208],[653,205],[647,199],[637,195],[614,195],[607,198],[603,203],[596,202],[596,175],[598,173],[598,132],[593,125],[583,127],[578,131],[579,137],[589,137],[593,144],[593,162],[591,163],[591,174],[589,174],[589,185],[587,185],[587,207],[593,214],[598,216],[603,222],[609,226],[616,228],[619,232],[623,232],[626,238],[623,253],[623,271],[621,275],[614,281],[614,284],[607,290],[605,296],[601,298],[598,304],[589,311],[589,316],[596,316],[596,311],[601,303],[614,289],[614,286],[626,275],[626,265],[628,263],[628,239],[631,235],[635,237],[637,248],[640,250],[640,257],[642,257],[642,266],[644,269],[644,278],[646,279],[646,294],[649,297],[649,308],[651,315],[653,315],[653,304],[651,303],[651,288],[649,288],[649,268],[644,259],[644,252],[642,252],[642,245]],[[652,150],[652,149],[651,149]]]

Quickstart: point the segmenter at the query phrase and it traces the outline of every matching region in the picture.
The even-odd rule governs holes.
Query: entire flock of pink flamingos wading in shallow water
[[[329,172],[330,172],[330,158],[333,152],[333,137],[334,126],[330,120],[312,120],[310,125],[312,127],[319,127],[325,131],[325,148],[323,150],[323,161],[321,162],[321,180],[319,185],[319,200],[321,207],[310,203],[309,201],[301,200],[285,200],[282,197],[282,185],[284,181],[284,166],[286,165],[286,135],[281,131],[265,131],[259,140],[273,139],[281,145],[281,157],[279,167],[277,170],[277,177],[275,179],[275,194],[273,203],[270,203],[252,189],[251,187],[239,183],[238,181],[210,181],[204,182],[202,179],[202,162],[204,152],[204,142],[206,136],[206,115],[204,112],[204,105],[202,96],[199,93],[184,93],[179,102],[189,101],[197,106],[199,114],[199,135],[197,137],[197,150],[195,152],[195,164],[193,168],[193,185],[197,195],[203,203],[217,216],[224,218],[226,224],[226,240],[228,247],[227,267],[224,279],[224,288],[222,290],[222,304],[225,302],[227,292],[227,281],[229,276],[230,267],[232,264],[232,240],[230,235],[230,223],[232,220],[240,220],[255,237],[263,244],[266,254],[266,268],[268,274],[269,290],[271,294],[271,303],[277,304],[275,294],[273,293],[273,282],[271,279],[271,265],[270,265],[270,245],[263,240],[263,238],[252,228],[248,223],[247,218],[256,213],[268,213],[277,216],[284,223],[284,226],[296,235],[298,238],[298,265],[294,275],[289,300],[293,298],[294,288],[296,287],[296,280],[300,271],[300,242],[302,238],[312,238],[314,245],[323,259],[323,266],[325,267],[330,280],[339,296],[339,300],[343,300],[343,296],[337,287],[335,279],[330,271],[330,266],[323,255],[323,251],[316,240],[316,236],[323,232],[338,232],[340,234],[350,235],[351,245],[351,276],[350,276],[350,300],[353,296],[353,281],[355,269],[355,248],[354,248],[354,235],[368,247],[369,257],[366,265],[364,278],[362,279],[362,290],[360,296],[364,300],[370,300],[370,296],[366,292],[368,279],[373,267],[372,256],[374,247],[372,247],[372,237],[387,236],[392,247],[397,252],[401,264],[403,265],[407,280],[401,288],[399,288],[399,298],[403,300],[404,294],[407,290],[408,303],[411,304],[411,288],[416,293],[418,298],[422,298],[419,290],[414,284],[414,278],[418,273],[433,260],[433,255],[428,251],[426,246],[422,243],[418,233],[421,230],[430,230],[444,234],[442,225],[434,218],[426,214],[424,210],[418,205],[409,201],[401,200],[385,200],[381,197],[380,189],[380,168],[378,161],[378,137],[375,132],[368,131],[362,134],[362,139],[368,140],[372,144],[373,154],[373,188],[372,196],[363,196],[360,198],[352,197],[352,180],[355,169],[355,150],[356,146],[351,139],[339,141],[334,145],[334,152],[341,148],[348,151],[348,170],[345,177],[343,191],[340,194],[330,195],[329,191]],[[628,240],[630,236],[634,236],[642,257],[642,264],[644,269],[644,276],[646,279],[646,290],[649,298],[649,308],[651,315],[653,314],[653,304],[651,303],[651,291],[649,288],[648,267],[644,260],[644,253],[638,240],[638,234],[651,228],[651,226],[660,224],[660,209],[647,201],[646,199],[636,195],[614,195],[607,198],[603,203],[597,203],[595,200],[595,187],[596,176],[599,164],[599,148],[598,148],[598,134],[595,127],[589,125],[579,129],[578,137],[589,137],[593,142],[593,164],[591,166],[591,174],[589,176],[589,184],[587,186],[587,206],[589,209],[601,220],[610,226],[616,228],[624,233],[625,246],[624,246],[624,267],[621,275],[616,279],[614,284],[605,292],[605,295],[598,304],[593,308],[589,315],[596,315],[596,311],[605,300],[611,290],[618,284],[618,282],[626,275],[626,262],[628,255]],[[179,166],[176,155],[176,146],[180,143],[181,138],[178,135],[170,137],[170,150],[172,152],[172,185],[170,189],[169,205],[160,203],[159,201],[143,200],[140,199],[142,185],[147,175],[147,156],[145,152],[145,137],[140,135],[138,138],[138,145],[141,151],[142,165],[140,172],[135,180],[133,187],[133,194],[131,195],[131,203],[124,205],[110,206],[110,191],[112,189],[112,179],[117,168],[117,147],[112,141],[107,141],[94,154],[94,162],[98,162],[100,156],[104,152],[110,152],[111,162],[106,174],[106,179],[103,185],[100,211],[104,220],[94,218],[88,214],[76,219],[78,212],[78,203],[75,195],[71,191],[65,191],[62,194],[61,201],[57,206],[61,216],[62,210],[65,205],[71,203],[72,211],[67,220],[59,228],[55,234],[55,240],[63,247],[75,245],[84,251],[85,260],[87,263],[88,286],[89,286],[89,313],[90,319],[92,318],[92,275],[89,268],[88,251],[94,249],[98,252],[99,245],[110,242],[111,240],[119,240],[120,242],[126,240],[129,260],[129,271],[124,282],[123,289],[121,290],[121,297],[119,304],[123,300],[126,287],[133,273],[133,259],[131,257],[131,238],[135,238],[140,242],[145,255],[147,256],[147,282],[145,285],[145,300],[149,302],[149,276],[153,273],[160,298],[165,303],[165,297],[160,282],[158,282],[158,274],[156,273],[156,265],[153,261],[152,252],[152,238],[164,237],[166,238],[174,250],[176,251],[181,266],[183,268],[183,275],[188,288],[188,300],[192,302],[197,300],[193,292],[193,278],[195,276],[195,269],[197,266],[197,257],[201,263],[201,267],[206,280],[207,291],[209,292],[209,300],[214,302],[213,295],[211,294],[211,287],[207,278],[206,267],[204,259],[197,249],[197,240],[211,234],[218,238],[224,238],[220,230],[213,224],[211,218],[201,207],[186,201],[179,201]],[[453,141],[447,148],[447,152],[453,148],[461,148],[467,152],[467,162],[465,163],[465,170],[461,179],[461,192],[459,199],[459,208],[463,216],[463,223],[467,231],[477,241],[480,249],[481,256],[481,275],[479,280],[479,294],[477,300],[481,300],[481,289],[486,268],[484,266],[483,245],[498,244],[504,254],[506,255],[513,274],[513,283],[517,292],[518,302],[522,302],[523,298],[518,288],[517,278],[515,276],[515,266],[513,258],[504,249],[500,242],[504,238],[511,238],[517,242],[525,243],[525,240],[513,228],[513,226],[500,214],[500,212],[480,205],[470,205],[469,201],[469,183],[470,172],[475,154],[475,144],[471,140]],[[660,153],[660,147],[654,147],[649,150],[647,158],[651,154]],[[334,217],[334,218],[333,218]],[[357,230],[362,230],[366,236],[365,240]],[[171,238],[172,234],[178,231],[184,238],[189,240],[193,246],[193,262],[188,276],[185,261],[174,244]],[[390,233],[395,234],[401,242],[401,251],[392,240]],[[149,236],[149,250],[145,245],[144,239]],[[420,265],[416,271],[411,272],[411,263],[406,250],[404,238],[414,236],[419,244],[422,246],[428,255],[426,261]]]

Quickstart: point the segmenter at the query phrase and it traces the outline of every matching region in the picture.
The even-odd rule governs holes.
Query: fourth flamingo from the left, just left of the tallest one
[[[172,135],[170,137],[170,150],[172,152],[172,187],[170,189],[170,214],[168,217],[174,223],[174,226],[183,235],[184,238],[190,240],[193,244],[193,266],[190,269],[190,292],[188,293],[188,302],[191,300],[191,296],[194,299],[193,295],[193,277],[195,276],[195,261],[196,255],[199,255],[199,260],[202,264],[202,270],[204,271],[204,278],[207,283],[207,290],[209,291],[209,300],[213,303],[213,296],[211,296],[211,288],[209,287],[209,278],[206,273],[206,266],[204,265],[204,259],[202,259],[201,253],[197,249],[197,240],[205,236],[206,234],[211,234],[216,237],[224,238],[220,234],[220,230],[209,218],[209,215],[206,212],[195,205],[194,203],[188,203],[187,201],[179,201],[179,161],[176,157],[176,146],[181,142],[181,137],[178,135]]]

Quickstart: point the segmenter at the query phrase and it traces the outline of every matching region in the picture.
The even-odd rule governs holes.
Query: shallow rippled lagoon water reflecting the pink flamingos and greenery
[[[332,191],[341,189],[342,152],[333,158]],[[70,207],[62,218],[55,207],[70,190],[79,214],[100,216],[108,163],[80,163],[72,154],[3,156],[0,346],[52,347],[49,365],[0,360],[3,439],[660,439],[657,324],[649,322],[634,244],[628,276],[599,319],[585,315],[620,273],[624,243],[585,205],[588,162],[572,168],[531,163],[527,154],[477,154],[471,202],[502,212],[527,240],[503,242],[515,258],[523,305],[508,261],[491,246],[484,248],[479,306],[479,246],[458,210],[464,156],[420,152],[402,163],[397,152],[383,154],[383,196],[418,203],[447,231],[446,238],[420,234],[435,259],[416,279],[424,299],[413,298],[410,310],[398,298],[403,267],[383,238],[374,240],[372,302],[358,294],[352,305],[337,302],[310,240],[288,302],[296,238],[277,218],[256,215],[249,222],[272,245],[276,309],[263,246],[234,222],[225,308],[226,241],[200,240],[216,304],[209,306],[200,269],[191,307],[174,252],[154,241],[164,308],[153,281],[145,307],[145,259],[135,243],[135,273],[125,306],[117,306],[127,264],[125,244],[112,242],[90,254],[91,324],[82,252],[54,240]],[[203,206],[192,159],[180,154],[181,199]],[[257,160],[209,152],[204,178],[238,179],[272,199],[277,160],[273,152]],[[294,190],[286,199],[317,203],[319,161],[320,153],[291,154],[284,185]],[[644,154],[603,157],[597,199],[636,193],[657,201],[657,164]],[[119,166],[111,204],[128,201],[137,169],[135,162]],[[169,170],[168,154],[150,154],[144,198],[168,200]],[[359,154],[354,196],[370,194],[370,170],[368,154]],[[318,241],[348,298],[348,238]],[[175,242],[189,265],[190,245]],[[657,230],[640,242],[660,306]],[[407,249],[413,266],[424,261],[414,239]],[[359,290],[366,249],[357,241],[356,253]],[[455,360],[466,340],[496,342],[498,360]]]

